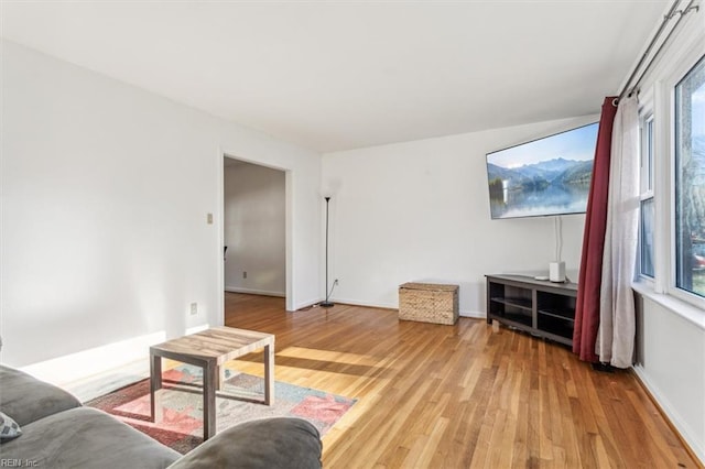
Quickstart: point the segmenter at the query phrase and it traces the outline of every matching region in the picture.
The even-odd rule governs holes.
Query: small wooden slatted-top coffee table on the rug
[[[150,347],[150,395],[154,422],[162,418],[159,390],[162,389],[162,358],[203,369],[203,439],[216,434],[216,390],[224,380],[223,364],[264,349],[264,404],[274,403],[274,336],[232,327],[214,327],[191,336]]]

